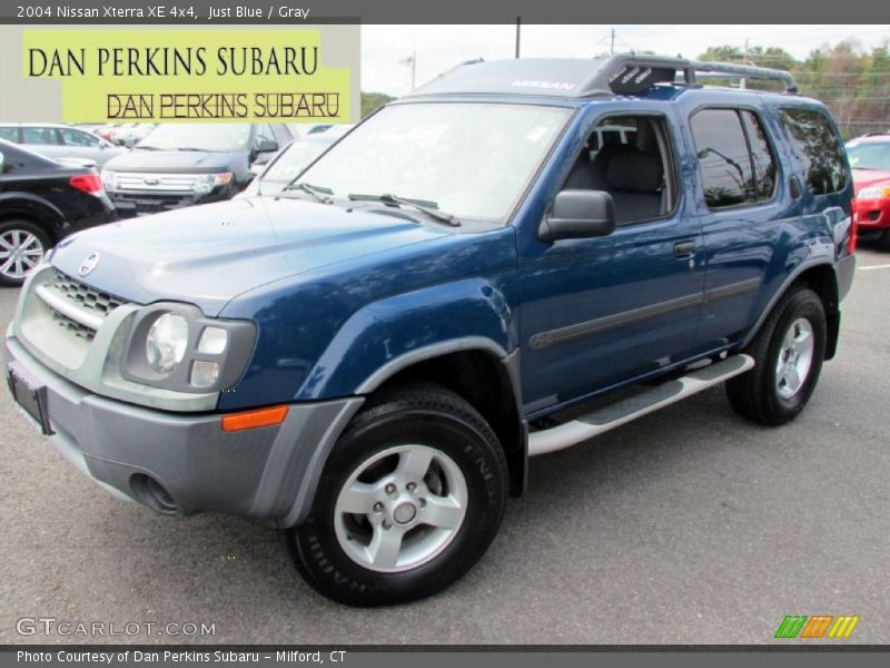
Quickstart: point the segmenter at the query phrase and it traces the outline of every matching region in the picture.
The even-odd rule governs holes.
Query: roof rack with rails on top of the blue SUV
[[[673,82],[681,76],[688,86],[694,86],[700,72],[706,77],[780,81],[785,92],[798,92],[794,77],[784,70],[636,53],[617,53],[602,61],[582,88],[589,95],[633,94],[642,92],[653,84]]]

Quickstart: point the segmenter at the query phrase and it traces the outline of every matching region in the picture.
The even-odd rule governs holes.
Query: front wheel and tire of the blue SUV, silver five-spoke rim
[[[350,606],[421,599],[459,579],[497,532],[501,444],[457,394],[415,383],[373,397],[325,465],[306,522],[285,532],[297,570]]]

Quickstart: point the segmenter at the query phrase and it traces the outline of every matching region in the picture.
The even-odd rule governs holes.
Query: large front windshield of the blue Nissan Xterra
[[[336,197],[395,195],[503,222],[572,109],[424,102],[386,107],[300,177]]]

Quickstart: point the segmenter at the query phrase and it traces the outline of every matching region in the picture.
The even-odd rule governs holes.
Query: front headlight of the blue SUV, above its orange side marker
[[[134,314],[120,375],[177,392],[221,392],[244,373],[256,336],[254,323],[207,317],[192,304],[144,306]]]

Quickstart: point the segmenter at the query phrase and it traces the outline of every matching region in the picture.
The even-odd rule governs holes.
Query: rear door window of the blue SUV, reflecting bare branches
[[[772,198],[775,158],[756,115],[740,109],[703,109],[690,119],[690,127],[710,208]]]

